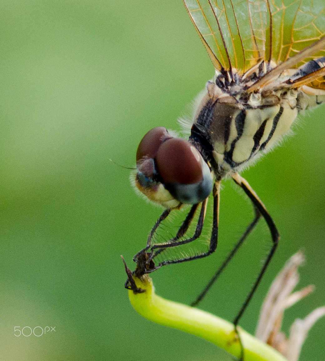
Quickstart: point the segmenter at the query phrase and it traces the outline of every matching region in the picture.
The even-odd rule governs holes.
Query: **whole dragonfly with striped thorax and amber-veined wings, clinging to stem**
[[[299,113],[325,102],[325,4],[324,0],[183,3],[214,65],[215,76],[206,83],[196,102],[197,109],[188,122],[188,140],[156,127],[145,134],[137,148],[135,186],[150,201],[166,209],[151,230],[146,247],[133,260],[137,263],[136,273],[145,274],[214,253],[218,243],[220,184],[232,178],[249,197],[255,217],[192,306],[203,299],[264,218],[271,247],[233,320],[236,329],[280,239],[272,217],[240,172],[281,143]],[[207,249],[162,257],[166,251],[200,238],[210,199],[213,219]],[[157,230],[170,213],[186,205],[190,208],[175,235],[154,242]],[[188,235],[193,222],[193,234]],[[158,256],[162,257],[159,262]]]

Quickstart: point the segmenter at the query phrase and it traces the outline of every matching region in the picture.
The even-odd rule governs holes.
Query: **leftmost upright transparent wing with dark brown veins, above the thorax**
[[[214,64],[245,72],[265,57],[266,0],[183,0]]]

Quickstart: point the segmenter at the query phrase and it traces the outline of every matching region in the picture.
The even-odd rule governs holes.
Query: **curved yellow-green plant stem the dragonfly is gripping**
[[[231,355],[240,357],[241,348],[232,323],[197,308],[157,296],[148,275],[142,276],[141,279],[133,276],[133,279],[136,286],[144,290],[143,293],[129,290],[131,304],[141,316],[161,325],[205,338]],[[287,361],[275,349],[241,328],[239,333],[244,347],[245,361]]]

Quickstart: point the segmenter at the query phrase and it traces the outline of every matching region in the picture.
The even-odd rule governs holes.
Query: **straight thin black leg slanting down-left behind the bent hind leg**
[[[234,248],[232,249],[232,251],[229,253],[229,255],[227,256],[227,258],[224,260],[223,264],[219,267],[219,269],[216,271],[216,273],[213,275],[213,277],[210,279],[210,281],[208,282],[208,284],[205,286],[205,288],[203,289],[203,291],[198,295],[198,297],[196,298],[195,301],[193,301],[190,305],[191,306],[197,306],[202,300],[203,298],[206,296],[207,292],[210,290],[210,288],[212,287],[212,285],[215,283],[215,281],[219,278],[220,274],[223,272],[223,270],[225,269],[225,267],[228,265],[228,263],[231,261],[231,259],[233,258],[233,256],[236,254],[236,252],[238,251],[238,249],[240,248],[240,246],[243,244],[243,242],[246,240],[247,236],[250,234],[250,232],[255,228],[256,224],[258,223],[261,213],[259,212],[259,210],[256,208],[256,206],[254,205],[254,210],[255,210],[255,218],[253,219],[253,221],[250,223],[250,225],[246,228],[246,231],[244,232],[244,234],[241,236],[241,238],[238,240],[238,242],[236,243],[236,245],[234,246]]]

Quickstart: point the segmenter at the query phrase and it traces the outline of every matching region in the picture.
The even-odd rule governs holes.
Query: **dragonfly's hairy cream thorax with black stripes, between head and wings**
[[[246,93],[243,85],[208,82],[196,111],[190,141],[211,161],[217,178],[241,170],[271,149],[298,115],[299,91]]]

